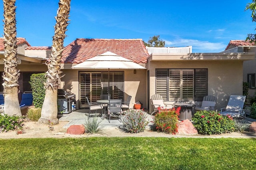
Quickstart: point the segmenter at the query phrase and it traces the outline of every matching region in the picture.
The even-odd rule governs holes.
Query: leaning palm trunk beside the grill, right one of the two
[[[46,72],[46,92],[42,106],[40,123],[48,123],[50,120],[53,124],[58,123],[58,106],[57,91],[60,85],[60,63],[63,51],[64,38],[66,37],[66,28],[68,26],[68,17],[70,12],[71,0],[60,0],[57,11],[56,24],[54,26],[54,37],[52,40],[52,54],[50,60],[46,63],[48,71]]]

